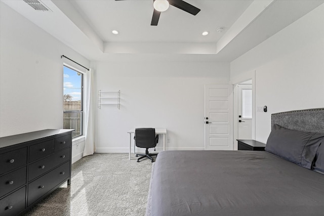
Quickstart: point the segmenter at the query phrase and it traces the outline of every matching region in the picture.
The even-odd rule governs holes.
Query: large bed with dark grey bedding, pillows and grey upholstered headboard
[[[324,109],[271,126],[266,151],[159,153],[147,215],[324,215]]]

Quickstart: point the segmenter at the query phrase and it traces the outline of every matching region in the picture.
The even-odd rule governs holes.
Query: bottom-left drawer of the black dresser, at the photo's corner
[[[4,197],[0,200],[0,215],[17,215],[25,208],[26,187]]]

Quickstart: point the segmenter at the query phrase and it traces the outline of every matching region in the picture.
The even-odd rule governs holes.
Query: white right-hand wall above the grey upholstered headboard
[[[230,79],[256,71],[256,140],[266,143],[271,113],[324,107],[324,5],[230,64]]]

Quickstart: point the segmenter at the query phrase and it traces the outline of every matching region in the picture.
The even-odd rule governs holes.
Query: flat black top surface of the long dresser
[[[59,134],[72,132],[74,129],[44,129],[42,131],[29,132],[0,138],[0,148],[26,143],[42,138],[52,137]]]

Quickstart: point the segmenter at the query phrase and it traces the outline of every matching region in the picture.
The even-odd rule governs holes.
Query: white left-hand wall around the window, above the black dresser
[[[77,65],[60,56],[85,66],[90,61],[0,4],[0,137],[62,128],[63,61]],[[84,142],[76,144],[74,161],[84,148]]]

